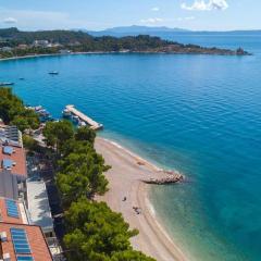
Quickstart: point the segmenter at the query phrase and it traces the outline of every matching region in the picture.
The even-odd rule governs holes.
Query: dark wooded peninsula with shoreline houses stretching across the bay
[[[98,53],[173,53],[249,55],[237,50],[183,45],[149,35],[94,37],[75,30],[21,32],[17,28],[0,29],[0,59],[42,54]]]

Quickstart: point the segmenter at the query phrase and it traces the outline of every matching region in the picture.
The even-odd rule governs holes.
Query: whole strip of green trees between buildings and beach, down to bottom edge
[[[55,181],[65,210],[63,238],[69,261],[153,261],[135,251],[129,239],[138,234],[129,229],[122,214],[95,195],[108,190],[104,176],[110,166],[95,150],[96,133],[88,127],[74,129],[67,121],[47,123],[44,135],[54,151]]]

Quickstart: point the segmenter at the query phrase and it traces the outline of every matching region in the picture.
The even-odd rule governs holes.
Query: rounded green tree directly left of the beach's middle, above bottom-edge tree
[[[74,149],[76,148],[75,146]],[[59,161],[57,184],[65,207],[82,196],[91,199],[95,194],[103,195],[108,190],[108,181],[103,173],[110,166],[104,164],[103,158],[92,147],[80,148],[82,152],[71,152]]]

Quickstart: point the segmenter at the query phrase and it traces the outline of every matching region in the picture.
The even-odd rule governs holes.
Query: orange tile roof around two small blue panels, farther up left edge
[[[9,147],[12,147],[12,146],[9,146]],[[11,173],[26,177],[27,171],[26,171],[25,151],[23,148],[18,148],[18,147],[12,147],[12,148],[14,149],[15,152],[9,156],[3,153],[3,146],[0,146],[0,172],[3,171],[2,160],[8,159],[8,160],[12,160],[15,163],[15,165],[11,170]]]

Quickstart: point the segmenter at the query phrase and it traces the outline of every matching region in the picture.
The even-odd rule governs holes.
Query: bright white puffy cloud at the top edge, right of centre
[[[226,10],[228,3],[226,0],[195,0],[191,5],[182,3],[182,9],[189,11],[212,11],[212,10]]]

